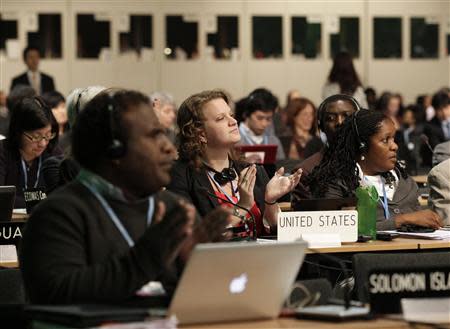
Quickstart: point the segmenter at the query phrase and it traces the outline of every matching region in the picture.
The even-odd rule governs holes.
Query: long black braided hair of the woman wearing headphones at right
[[[329,141],[329,147],[325,150],[320,164],[306,178],[305,183],[314,197],[323,198],[329,186],[337,180],[342,181],[346,188],[344,196],[354,194],[359,186],[356,162],[361,155],[367,153],[370,137],[380,130],[382,121],[387,118],[382,112],[363,109],[346,119],[337,130],[335,138]],[[357,129],[354,127],[354,121]],[[364,149],[359,147],[361,143],[366,145]],[[383,176],[387,183],[393,182],[392,174],[384,173]]]

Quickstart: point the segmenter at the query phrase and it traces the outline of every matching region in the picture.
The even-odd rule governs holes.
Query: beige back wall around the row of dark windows
[[[1,0],[0,11],[15,15],[19,21],[19,43],[25,47],[25,21],[30,13],[61,13],[63,59],[42,60],[41,69],[53,75],[58,90],[87,85],[123,86],[150,93],[153,90],[172,92],[178,101],[191,93],[207,88],[225,88],[239,98],[256,87],[272,89],[284,101],[289,89],[299,89],[313,101],[321,99],[331,60],[327,22],[339,15],[360,17],[360,53],[355,65],[363,83],[378,92],[398,91],[413,101],[418,94],[431,93],[450,85],[450,57],[445,54],[445,33],[450,32],[450,1],[20,1]],[[106,13],[111,17],[112,58],[109,61],[80,60],[75,57],[75,15],[79,12]],[[117,21],[122,14],[153,15],[154,56],[142,62],[118,55]],[[191,61],[170,61],[163,55],[166,14],[194,14],[200,22],[200,58]],[[240,59],[215,61],[202,54],[206,48],[205,22],[211,15],[239,16]],[[254,14],[283,16],[282,59],[255,60],[251,57],[251,20]],[[295,58],[290,55],[290,17],[319,15],[322,20],[322,57]],[[372,18],[403,17],[402,59],[372,58]],[[432,16],[440,23],[439,59],[409,59],[409,18]],[[21,58],[0,56],[0,89],[9,89],[11,78],[24,70]]]

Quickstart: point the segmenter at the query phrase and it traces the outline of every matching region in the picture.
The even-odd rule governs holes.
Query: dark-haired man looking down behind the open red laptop
[[[250,95],[245,103],[243,122],[239,124],[241,145],[267,145],[275,144],[277,148],[277,160],[285,158],[283,147],[277,136],[270,132],[272,118],[275,110],[266,107],[264,101],[257,96]],[[251,161],[250,162],[257,162]]]

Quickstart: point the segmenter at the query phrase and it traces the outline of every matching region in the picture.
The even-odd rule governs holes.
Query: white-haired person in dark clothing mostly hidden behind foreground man
[[[68,126],[73,127],[77,115],[85,108],[86,104],[98,93],[105,90],[105,87],[91,86],[87,88],[74,89],[67,97],[67,117]],[[65,138],[70,143],[70,130]],[[47,158],[42,164],[42,174],[47,183],[47,192],[51,193],[60,186],[71,182],[80,171],[80,166],[72,157],[70,145],[65,151],[64,157],[52,156]]]

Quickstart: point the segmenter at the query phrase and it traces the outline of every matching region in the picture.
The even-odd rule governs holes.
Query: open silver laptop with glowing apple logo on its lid
[[[197,245],[169,314],[181,324],[275,318],[306,247],[304,241]]]

